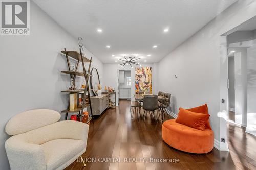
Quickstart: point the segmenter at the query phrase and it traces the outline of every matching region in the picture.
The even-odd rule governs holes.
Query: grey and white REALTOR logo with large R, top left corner
[[[29,0],[0,0],[0,35],[29,35]]]

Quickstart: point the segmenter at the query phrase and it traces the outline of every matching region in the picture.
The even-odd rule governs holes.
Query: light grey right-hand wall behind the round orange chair
[[[227,149],[223,113],[227,104],[227,50],[222,34],[256,15],[255,1],[238,1],[163,58],[158,65],[160,91],[172,94],[172,111],[208,104],[215,146]],[[178,78],[174,75],[178,74]],[[166,76],[167,75],[167,76]]]

